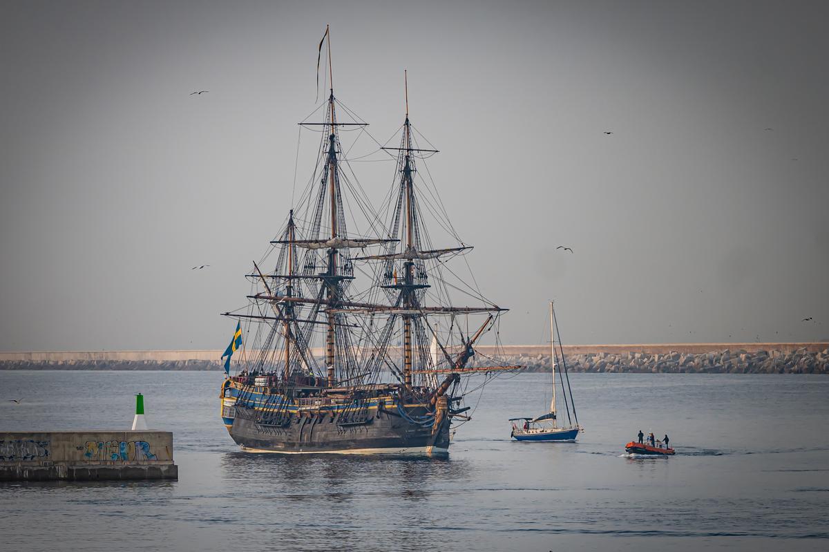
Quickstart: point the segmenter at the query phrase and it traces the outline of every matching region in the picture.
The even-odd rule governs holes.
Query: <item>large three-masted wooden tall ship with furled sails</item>
[[[458,276],[472,246],[420,175],[438,152],[419,147],[407,80],[400,139],[375,151],[395,164],[392,186],[379,210],[369,201],[341,142],[367,123],[334,95],[326,39],[327,101],[300,123],[320,134],[312,176],[246,274],[247,303],[224,313],[239,321],[240,350],[221,418],[248,452],[447,453],[453,423],[470,419],[464,399],[520,369],[476,350],[497,342],[507,309]]]

